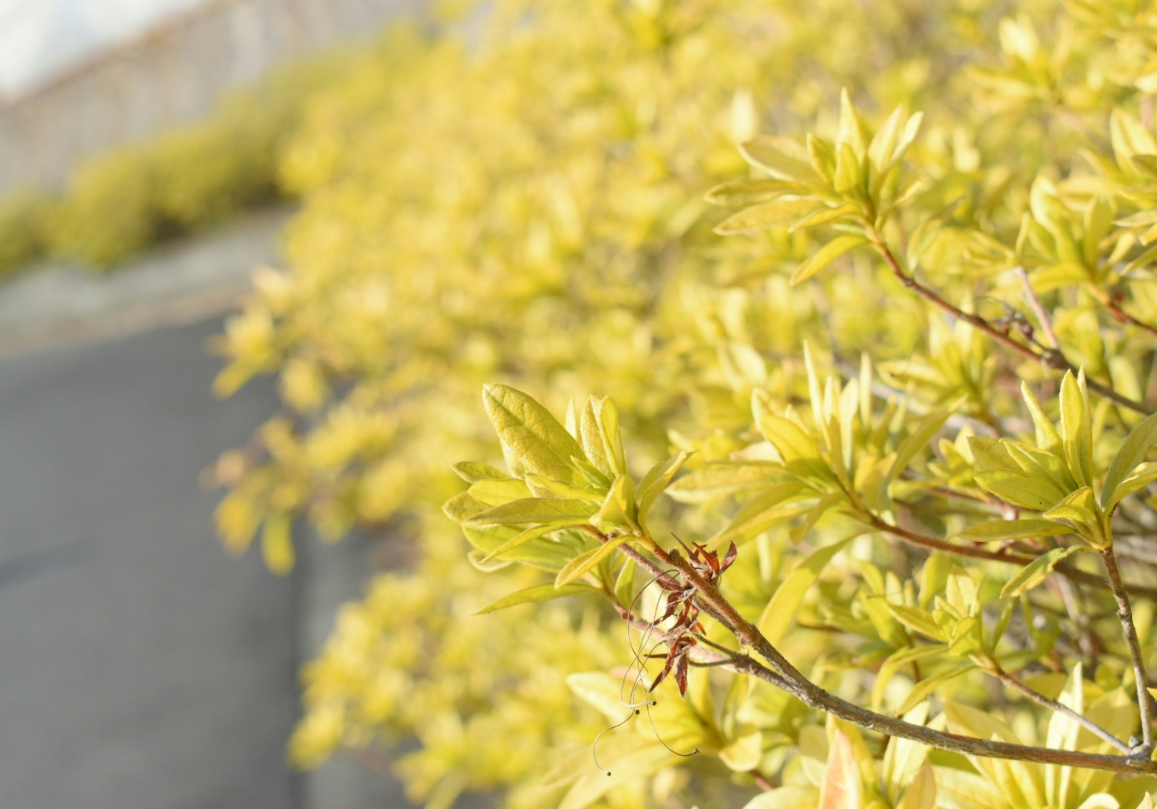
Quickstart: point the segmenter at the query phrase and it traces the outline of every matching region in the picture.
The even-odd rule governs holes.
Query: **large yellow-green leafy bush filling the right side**
[[[286,409],[219,524],[422,554],[307,668],[300,764],[417,735],[436,807],[1149,800],[1154,12],[795,5],[491,3],[311,106],[219,380]]]

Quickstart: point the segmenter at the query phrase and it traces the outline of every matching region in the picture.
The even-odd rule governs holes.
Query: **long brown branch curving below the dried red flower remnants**
[[[870,730],[877,730],[887,736],[907,738],[930,747],[950,750],[968,756],[981,756],[987,758],[1004,758],[1023,762],[1036,762],[1040,764],[1056,764],[1061,766],[1088,767],[1092,770],[1107,770],[1112,772],[1148,772],[1157,773],[1157,762],[1149,760],[1148,752],[1143,756],[1108,756],[1103,753],[1088,753],[1071,750],[1051,750],[1048,748],[1034,748],[1024,744],[1011,744],[958,734],[934,730],[921,725],[913,725],[902,719],[879,714],[868,708],[853,705],[840,699],[824,689],[819,687],[804,677],[791,663],[776,649],[760,631],[750,624],[739,612],[720,594],[720,591],[707,582],[687,559],[684,559],[678,551],[668,553],[653,539],[643,537],[648,544],[648,550],[663,565],[679,571],[683,576],[694,586],[697,600],[710,612],[718,616],[718,620],[730,630],[740,643],[756,650],[761,657],[767,660],[775,670],[768,669],[764,664],[750,656],[736,656],[725,663],[731,671],[747,674],[768,683],[791,694],[799,701],[817,711],[831,713],[840,719],[847,720]],[[625,546],[620,546],[625,547]]]

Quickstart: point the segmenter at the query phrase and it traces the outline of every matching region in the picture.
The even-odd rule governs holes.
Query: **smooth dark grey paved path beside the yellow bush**
[[[301,809],[300,586],[226,556],[198,475],[216,319],[0,360],[0,807]]]

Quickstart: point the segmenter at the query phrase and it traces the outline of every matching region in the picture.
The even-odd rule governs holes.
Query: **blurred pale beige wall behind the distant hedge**
[[[374,36],[422,0],[207,0],[0,104],[0,192],[59,187],[78,159],[197,120],[275,64]]]

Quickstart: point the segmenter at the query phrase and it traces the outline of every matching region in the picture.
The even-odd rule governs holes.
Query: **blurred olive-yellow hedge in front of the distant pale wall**
[[[0,199],[0,273],[46,256],[104,269],[159,241],[282,199],[278,154],[309,98],[360,54],[274,71],[222,97],[205,122],[117,147],[76,167],[59,197]]]

